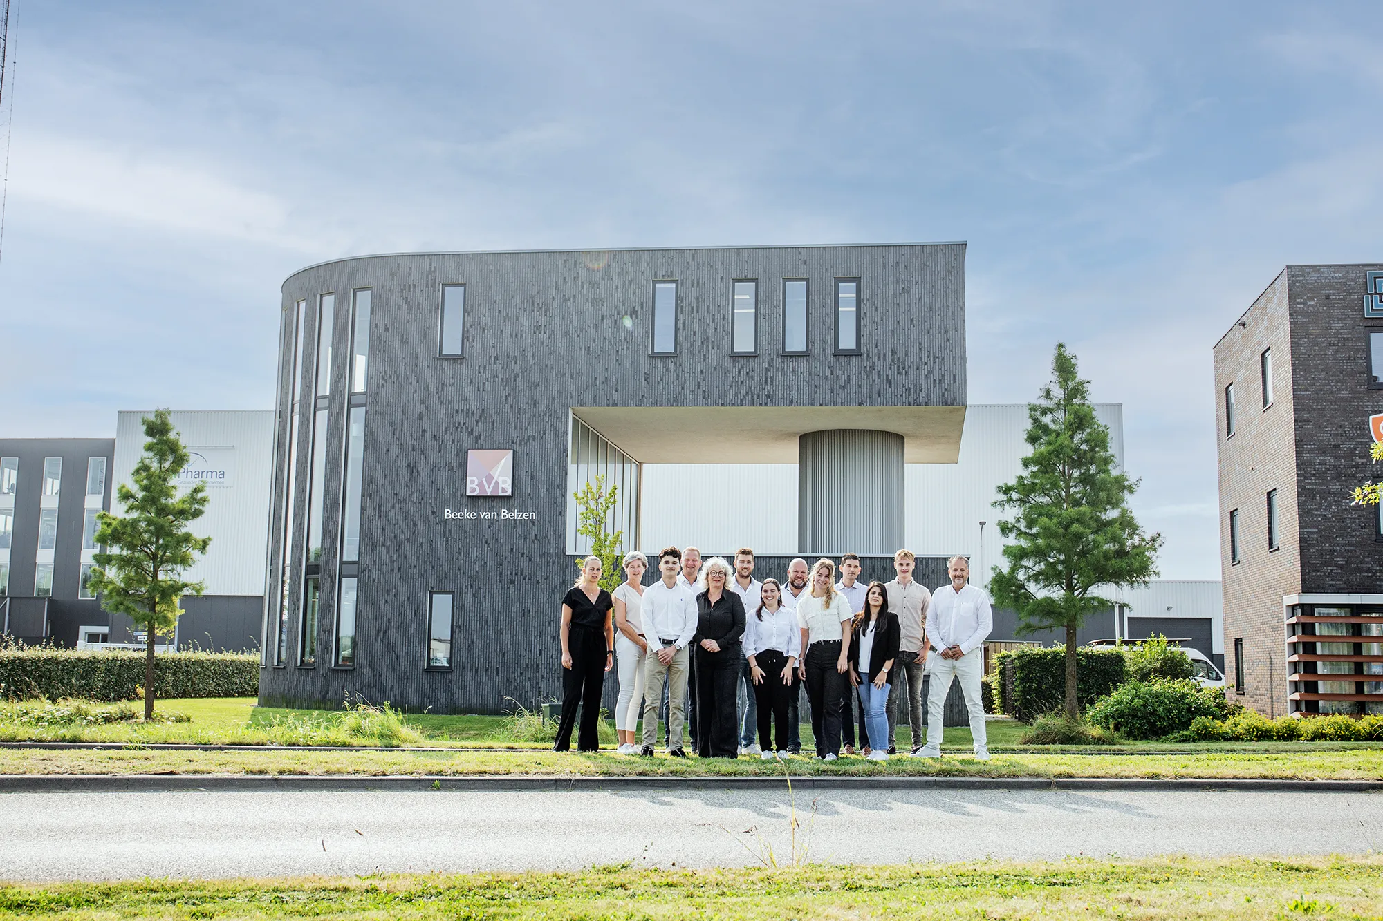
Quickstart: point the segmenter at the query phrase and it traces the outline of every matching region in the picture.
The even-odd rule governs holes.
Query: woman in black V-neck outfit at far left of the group
[[[614,599],[600,588],[600,557],[588,556],[581,578],[561,599],[561,722],[553,751],[570,751],[581,707],[577,751],[599,751],[600,691],[614,667]]]

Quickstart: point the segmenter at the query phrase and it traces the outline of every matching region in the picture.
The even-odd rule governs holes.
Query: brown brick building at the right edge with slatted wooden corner
[[[1288,266],[1214,347],[1225,673],[1268,715],[1383,712],[1383,266]],[[1325,639],[1329,638],[1329,639]]]

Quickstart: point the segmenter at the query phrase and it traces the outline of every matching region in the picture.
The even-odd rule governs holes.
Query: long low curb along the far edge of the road
[[[1142,777],[794,777],[799,791],[1124,791],[1124,792],[1383,792],[1379,780],[1152,780]],[[629,792],[653,790],[787,792],[781,777],[449,777],[248,774],[0,774],[15,792],[364,792],[364,791]]]

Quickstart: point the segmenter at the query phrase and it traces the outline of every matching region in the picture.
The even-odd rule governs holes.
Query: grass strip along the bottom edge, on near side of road
[[[0,918],[1383,917],[1383,860],[982,862],[0,886]]]

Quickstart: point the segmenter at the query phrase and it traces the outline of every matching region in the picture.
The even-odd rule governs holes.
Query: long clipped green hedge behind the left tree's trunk
[[[254,697],[259,657],[230,653],[160,653],[154,658],[155,697]],[[0,650],[0,698],[136,700],[144,686],[144,653],[66,649]]]

